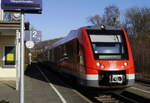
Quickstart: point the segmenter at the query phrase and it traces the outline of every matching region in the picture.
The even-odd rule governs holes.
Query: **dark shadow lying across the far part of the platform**
[[[41,73],[39,69],[44,73],[44,75],[46,75],[49,81],[45,79],[45,77],[43,76],[43,74]],[[47,83],[48,82],[52,83],[54,85],[59,85],[59,86],[63,86],[66,88],[72,88],[63,82],[64,80],[66,80],[65,78],[63,78],[56,72],[51,71],[50,67],[47,67],[41,64],[33,63],[29,65],[25,71],[25,75],[33,79],[41,80]]]

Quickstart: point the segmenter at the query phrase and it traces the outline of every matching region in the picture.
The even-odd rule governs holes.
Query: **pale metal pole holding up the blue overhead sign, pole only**
[[[24,103],[24,13],[21,13],[20,103]]]

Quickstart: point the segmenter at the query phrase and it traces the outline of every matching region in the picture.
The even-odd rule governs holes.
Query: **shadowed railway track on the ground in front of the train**
[[[150,100],[124,90],[83,90],[78,91],[93,103],[150,103]]]

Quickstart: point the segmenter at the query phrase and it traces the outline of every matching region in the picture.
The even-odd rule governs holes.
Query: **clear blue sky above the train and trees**
[[[148,7],[150,0],[42,0],[42,14],[26,14],[26,21],[42,31],[42,40],[65,37],[71,30],[91,25],[88,17],[103,15],[104,8],[116,5],[123,16],[127,8]]]

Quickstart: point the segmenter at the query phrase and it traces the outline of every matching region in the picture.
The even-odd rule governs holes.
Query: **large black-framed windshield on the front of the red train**
[[[93,52],[95,54],[95,59],[128,59],[127,47],[123,32],[119,30],[92,30],[88,33]]]

